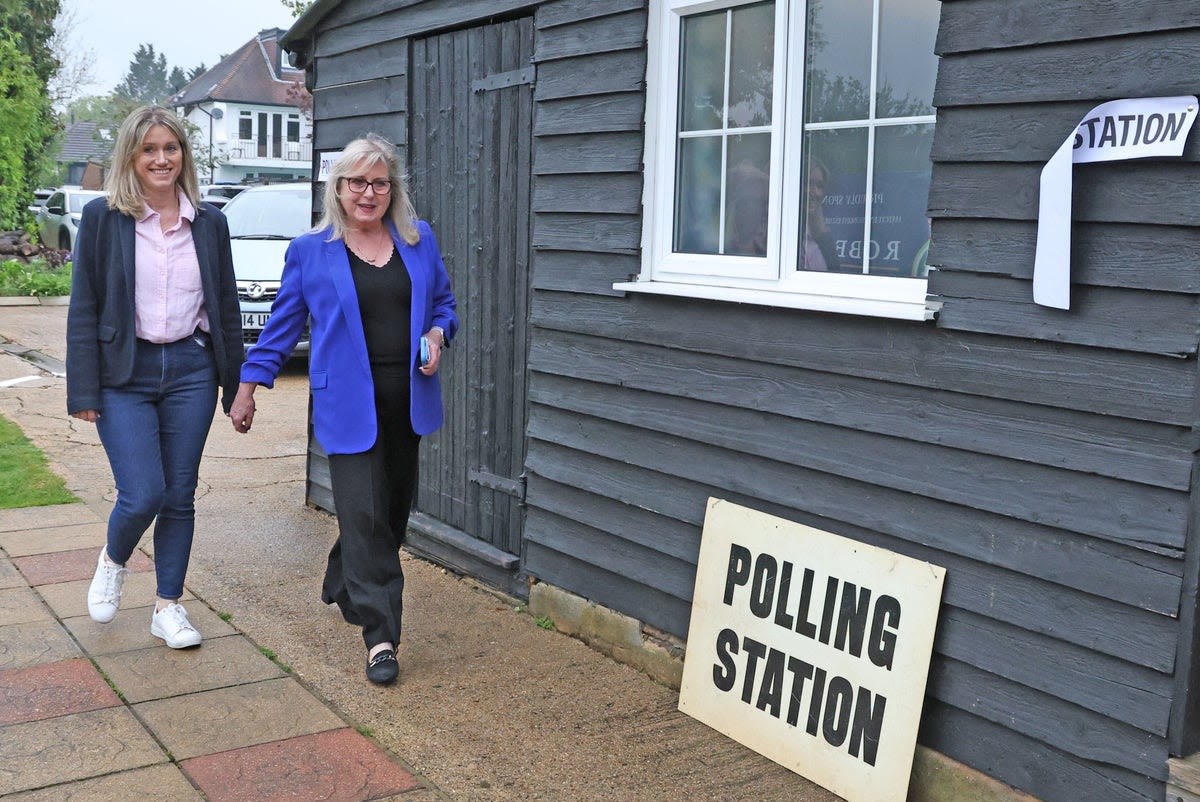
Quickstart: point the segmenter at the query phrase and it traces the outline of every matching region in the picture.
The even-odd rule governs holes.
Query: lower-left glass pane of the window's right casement
[[[798,269],[862,273],[866,128],[805,134],[804,181]]]

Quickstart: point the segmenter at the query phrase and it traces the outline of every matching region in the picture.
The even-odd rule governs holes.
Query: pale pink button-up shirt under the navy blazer
[[[146,207],[134,223],[133,304],[140,340],[176,342],[200,327],[209,330],[200,286],[200,263],[192,241],[196,208],[179,193],[179,222],[162,229],[162,217]]]

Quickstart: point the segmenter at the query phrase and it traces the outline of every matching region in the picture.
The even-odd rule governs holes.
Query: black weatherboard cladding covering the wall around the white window
[[[1162,800],[1195,604],[1195,137],[1076,169],[1072,312],[1030,279],[1040,166],[1082,114],[1200,85],[1193,0],[944,0],[930,323],[614,292],[641,267],[646,4],[502,5],[343,2],[312,58],[318,149],[403,144],[403,36],[534,14],[523,570],[686,635],[708,496],[944,565],[922,743],[1044,800]]]

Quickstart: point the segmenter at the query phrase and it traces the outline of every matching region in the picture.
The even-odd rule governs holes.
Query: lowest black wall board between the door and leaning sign
[[[653,587],[631,582],[624,576],[589,569],[570,555],[547,549],[538,539],[542,526],[538,510],[529,510],[526,568],[533,579],[570,591],[664,632],[688,632],[691,604]]]

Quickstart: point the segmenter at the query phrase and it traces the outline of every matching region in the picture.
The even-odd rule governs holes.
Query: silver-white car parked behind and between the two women
[[[312,228],[312,185],[252,186],[230,199],[222,211],[229,221],[241,330],[250,347],[258,342],[271,317],[271,304],[283,275],[283,253],[293,239]],[[306,333],[296,343],[296,352],[307,351]]]

